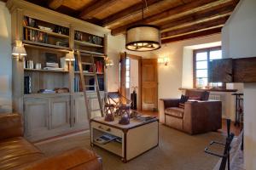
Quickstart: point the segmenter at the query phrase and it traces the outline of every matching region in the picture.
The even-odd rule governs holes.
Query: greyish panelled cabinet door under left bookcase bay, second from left
[[[70,127],[69,98],[54,98],[50,101],[50,129]]]

